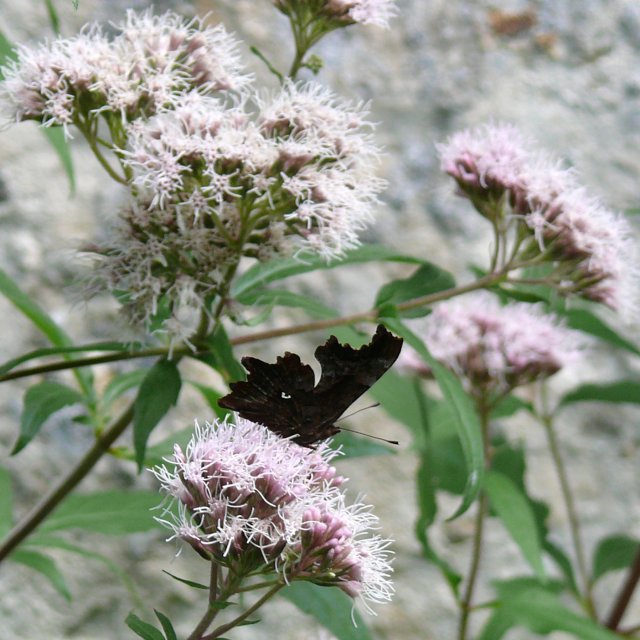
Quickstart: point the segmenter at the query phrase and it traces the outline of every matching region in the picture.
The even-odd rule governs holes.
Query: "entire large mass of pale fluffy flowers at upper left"
[[[172,340],[224,301],[241,258],[356,246],[385,186],[365,105],[314,83],[257,91],[221,26],[129,12],[113,39],[93,25],[22,47],[5,75],[12,118],[76,126],[130,189],[110,237],[86,245],[89,289]]]

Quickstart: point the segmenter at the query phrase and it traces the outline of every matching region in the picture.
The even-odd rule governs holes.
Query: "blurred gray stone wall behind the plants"
[[[128,7],[150,3],[126,0],[55,2],[66,35],[89,20],[120,20]],[[640,3],[637,0],[399,0],[400,13],[390,30],[353,27],[328,37],[316,53],[326,63],[320,80],[338,93],[372,101],[379,122],[377,138],[386,148],[381,175],[389,180],[385,206],[366,240],[384,241],[398,249],[443,265],[464,280],[470,262],[488,254],[488,228],[470,207],[453,197],[440,175],[434,142],[464,126],[490,119],[507,120],[575,165],[592,192],[616,209],[639,206],[640,175]],[[198,0],[157,2],[191,14],[212,12],[244,41],[243,52],[259,81],[273,86],[264,68],[248,52],[255,44],[279,66],[291,59],[286,23],[267,0]],[[535,24],[508,33],[509,16],[530,15]],[[517,22],[517,21],[516,21]],[[526,20],[524,22],[527,22]],[[0,29],[14,42],[50,37],[44,2],[0,0]],[[103,227],[123,194],[101,172],[80,139],[72,143],[78,190],[68,197],[59,162],[44,137],[30,124],[0,132],[0,265],[17,279],[79,342],[118,339],[122,326],[107,300],[77,302],[74,283],[80,266],[73,248]],[[400,268],[358,268],[326,272],[304,287],[344,311],[367,308],[377,286]],[[618,323],[612,314],[605,318]],[[0,299],[1,359],[42,346],[41,336],[4,299]],[[287,322],[279,318],[279,323]],[[631,322],[621,329],[639,337]],[[322,335],[256,345],[244,352],[275,353],[297,349],[307,359]],[[243,352],[243,353],[244,353]],[[590,360],[557,380],[558,389],[578,382],[638,376],[638,361],[596,349]],[[110,369],[96,369],[107,380]],[[191,375],[208,376],[205,370]],[[61,375],[59,379],[66,379]],[[17,458],[9,458],[26,381],[0,387],[0,464],[12,471],[15,511],[24,514],[38,496],[86,450],[90,435],[69,419],[47,425],[42,436]],[[181,428],[194,415],[207,417],[196,398],[167,428]],[[424,563],[412,536],[415,519],[413,476],[416,460],[408,436],[381,410],[359,416],[361,428],[398,437],[402,451],[392,458],[341,463],[351,477],[353,493],[364,492],[376,506],[386,535],[396,540],[397,594],[392,604],[368,617],[377,637],[444,640],[454,637],[453,603],[437,571]],[[593,405],[588,413],[565,412],[560,438],[578,496],[588,549],[605,534],[640,535],[638,489],[638,414],[629,407]],[[354,422],[356,422],[354,420]],[[514,441],[529,452],[531,492],[549,501],[554,538],[567,544],[566,517],[559,488],[540,429],[517,416],[508,424]],[[103,460],[82,490],[107,486],[152,486],[137,478],[130,465]],[[455,501],[443,500],[442,514]],[[464,569],[473,514],[440,522],[434,540],[448,559]],[[442,517],[444,519],[444,515]],[[483,566],[504,578],[526,567],[497,523],[488,529]],[[203,612],[199,592],[176,585],[161,573],[204,580],[203,566],[190,553],[173,559],[174,548],[158,535],[127,540],[81,535],[89,548],[108,554],[134,579],[143,602],[167,613],[179,634],[186,635]],[[38,576],[7,563],[0,574],[0,637],[3,640],[62,638],[106,640],[133,637],[123,623],[132,597],[98,563],[54,554],[74,593],[64,602]],[[612,575],[596,591],[601,607],[619,584]],[[479,598],[490,597],[484,588]],[[135,602],[135,601],[134,601]],[[144,616],[151,619],[150,609]],[[629,621],[640,617],[640,607]],[[480,616],[478,616],[480,617]],[[321,638],[314,623],[287,603],[267,607],[264,622],[240,630],[234,638]],[[536,637],[516,631],[514,639]],[[554,638],[565,636],[556,634]]]

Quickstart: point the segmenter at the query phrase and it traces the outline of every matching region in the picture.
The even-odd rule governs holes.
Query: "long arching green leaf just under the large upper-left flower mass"
[[[326,260],[315,254],[300,254],[297,258],[282,258],[253,265],[235,279],[231,287],[231,296],[237,298],[248,291],[262,288],[270,282],[317,269],[335,269],[336,267],[351,264],[378,261],[408,262],[412,264],[420,264],[422,262],[418,258],[399,254],[396,250],[382,245],[363,245],[348,251],[342,258],[333,262],[326,262]]]

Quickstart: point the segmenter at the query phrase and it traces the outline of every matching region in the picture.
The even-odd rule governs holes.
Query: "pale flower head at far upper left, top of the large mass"
[[[65,130],[99,114],[131,121],[170,106],[185,91],[245,86],[249,77],[241,74],[236,46],[222,26],[130,10],[113,38],[92,24],[74,38],[19,47],[17,60],[2,70],[3,110],[15,120]]]

